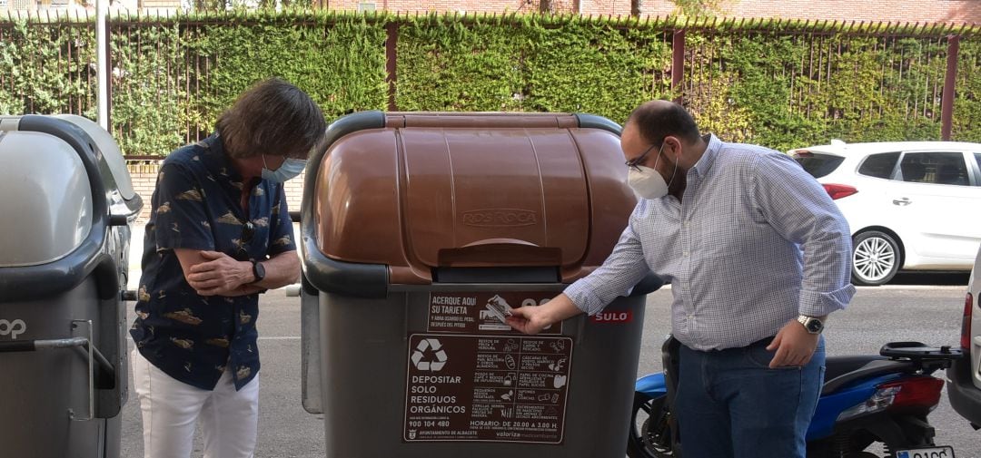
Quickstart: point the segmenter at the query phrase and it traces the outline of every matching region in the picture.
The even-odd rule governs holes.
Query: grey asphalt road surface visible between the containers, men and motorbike
[[[142,227],[138,227],[131,248],[130,288],[138,279],[141,236]],[[903,274],[894,283],[885,287],[858,288],[849,309],[832,315],[825,334],[829,355],[877,353],[883,343],[893,341],[957,343],[966,274]],[[655,292],[647,299],[639,374],[660,369],[660,343],[670,329],[667,319],[669,290]],[[260,458],[326,456],[324,418],[307,413],[301,405],[299,308],[299,298],[288,297],[283,290],[261,298],[258,327],[262,371],[256,450],[256,456]],[[393,415],[392,412],[377,414]],[[936,442],[954,446],[957,458],[981,458],[981,432],[973,431],[955,414],[946,392],[930,421],[937,429]],[[371,440],[374,434],[365,432],[365,439]],[[129,402],[123,409],[122,456],[141,457],[142,448],[138,402],[130,381]],[[198,434],[193,456],[200,457],[201,450]],[[874,448],[869,451],[881,452]]]

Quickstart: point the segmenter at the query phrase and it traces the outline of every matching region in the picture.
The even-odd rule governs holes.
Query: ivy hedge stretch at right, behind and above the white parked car
[[[688,44],[703,69],[690,103],[703,127],[736,140],[786,150],[831,138],[940,139],[947,44],[936,38],[709,31]],[[965,100],[963,89],[977,82],[961,76]],[[969,114],[956,115],[963,122]],[[981,140],[961,129],[956,136]]]

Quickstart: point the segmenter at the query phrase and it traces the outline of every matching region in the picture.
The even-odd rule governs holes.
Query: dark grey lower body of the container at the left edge
[[[88,337],[125,369],[126,341],[119,334],[125,309],[96,297],[94,279],[72,291],[37,300],[0,301],[0,315],[26,322],[19,340]],[[120,313],[122,311],[122,313]],[[122,315],[122,316],[121,316]],[[78,320],[78,321],[75,321]],[[123,323],[125,326],[125,323]],[[122,342],[122,344],[120,344]],[[3,456],[115,458],[120,456],[120,409],[126,401],[127,373],[117,370],[113,387],[95,389],[95,418],[88,415],[88,362],[80,347],[0,353],[0,443]],[[100,418],[101,417],[101,418]]]

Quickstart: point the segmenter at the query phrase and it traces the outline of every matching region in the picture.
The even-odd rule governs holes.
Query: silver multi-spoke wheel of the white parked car
[[[855,285],[883,285],[899,270],[900,244],[889,234],[866,231],[854,237],[852,282]]]

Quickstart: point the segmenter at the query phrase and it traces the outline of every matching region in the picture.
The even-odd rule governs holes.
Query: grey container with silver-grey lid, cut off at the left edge
[[[0,188],[0,454],[116,458],[142,206],[126,163],[86,118],[0,116]]]

